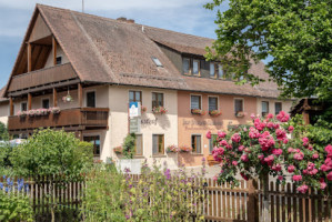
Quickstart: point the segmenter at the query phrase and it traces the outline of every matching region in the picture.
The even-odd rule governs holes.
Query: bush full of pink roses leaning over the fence
[[[289,123],[290,115],[266,114],[265,118],[251,115],[252,127],[240,127],[229,133],[218,133],[218,145],[212,155],[221,164],[218,182],[238,185],[235,175],[244,180],[264,175],[276,176],[285,182],[285,173],[301,193],[310,188],[324,190],[332,181],[332,145],[324,150],[312,144],[303,134],[288,138],[295,125]],[[248,130],[249,129],[249,130]],[[207,135],[210,135],[208,132]],[[209,137],[208,137],[209,139]]]

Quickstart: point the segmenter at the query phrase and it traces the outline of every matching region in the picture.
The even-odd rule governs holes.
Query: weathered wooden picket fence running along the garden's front
[[[133,175],[139,179],[138,175]],[[2,178],[0,182],[3,182]],[[73,216],[80,212],[81,196],[84,182],[63,183],[59,176],[29,179],[29,195],[32,201],[37,221],[50,221],[51,206],[57,205],[59,212],[69,211]],[[51,189],[53,186],[53,189]],[[207,221],[254,222],[266,221],[262,219],[262,188],[254,181],[240,181],[239,188],[230,184],[218,185],[208,179],[202,192],[207,193],[208,201],[204,205]],[[49,195],[51,194],[52,195]],[[269,212],[271,222],[332,222],[332,188],[324,193],[309,191],[299,193],[292,183],[278,185],[270,182]],[[51,199],[50,196],[53,196]],[[58,214],[57,218],[68,214]]]

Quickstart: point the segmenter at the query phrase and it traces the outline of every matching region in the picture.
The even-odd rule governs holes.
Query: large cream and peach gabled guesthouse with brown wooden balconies
[[[207,130],[217,133],[248,123],[251,113],[291,105],[278,100],[274,83],[233,84],[218,62],[204,60],[212,41],[37,4],[3,92],[8,129],[23,138],[39,128],[64,129],[92,142],[97,158],[118,159],[113,149],[129,132],[129,102],[140,102],[145,111],[135,158],[199,165],[213,147]],[[252,69],[268,78],[262,63]],[[155,107],[168,111],[154,113]],[[172,144],[193,151],[169,154]]]

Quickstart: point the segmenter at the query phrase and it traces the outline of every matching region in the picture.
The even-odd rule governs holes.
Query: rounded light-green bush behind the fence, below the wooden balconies
[[[81,152],[87,148],[82,143],[80,145],[73,133],[48,129],[36,132],[27,142],[14,148],[10,160],[18,175],[60,174],[69,180],[78,178],[89,165],[89,154]]]

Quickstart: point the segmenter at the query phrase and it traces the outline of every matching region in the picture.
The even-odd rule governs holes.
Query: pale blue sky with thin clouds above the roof
[[[127,17],[137,23],[215,38],[215,12],[209,0],[84,0],[84,12],[108,18]],[[0,0],[0,87],[12,70],[36,3],[82,10],[82,0]],[[221,10],[227,8],[227,3]]]

